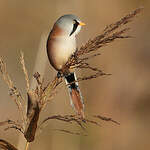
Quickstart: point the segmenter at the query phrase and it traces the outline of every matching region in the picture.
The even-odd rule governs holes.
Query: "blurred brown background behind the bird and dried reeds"
[[[78,35],[80,47],[89,38],[101,33],[106,25],[139,6],[144,6],[144,11],[128,25],[131,27],[128,34],[134,38],[113,42],[100,50],[102,55],[90,61],[112,75],[80,83],[86,116],[100,114],[112,117],[121,125],[100,121],[101,127],[89,125],[88,136],[84,137],[53,130],[79,131],[76,125],[49,121],[37,134],[30,149],[142,150],[150,147],[150,1],[0,0],[0,56],[7,63],[11,78],[24,96],[25,80],[19,63],[20,50],[24,52],[31,79],[34,71],[40,72],[44,68],[45,82],[52,80],[56,71],[49,65],[44,47],[46,35],[58,17],[72,13],[86,23]],[[38,52],[40,56],[37,56]],[[37,60],[37,57],[40,59]],[[36,68],[37,63],[41,66]],[[82,75],[82,72],[79,74]],[[63,83],[40,120],[53,114],[74,113],[67,92]],[[1,78],[0,93],[0,121],[19,120],[17,107]],[[16,146],[19,142],[18,133],[14,130],[6,132],[0,128],[0,138]]]

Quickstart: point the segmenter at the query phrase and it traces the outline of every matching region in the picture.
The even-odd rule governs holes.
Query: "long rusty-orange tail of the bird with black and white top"
[[[65,76],[65,81],[68,86],[71,105],[75,109],[76,113],[84,119],[84,102],[76,81],[75,73],[70,73]]]

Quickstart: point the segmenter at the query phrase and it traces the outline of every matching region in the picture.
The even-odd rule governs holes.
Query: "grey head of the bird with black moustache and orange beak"
[[[75,36],[81,30],[81,26],[85,25],[80,19],[72,14],[61,16],[55,23],[68,36]]]

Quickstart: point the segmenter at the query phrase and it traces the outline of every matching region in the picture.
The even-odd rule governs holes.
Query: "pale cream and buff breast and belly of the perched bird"
[[[76,51],[75,37],[57,37],[48,39],[47,53],[51,65],[61,70],[70,56]]]

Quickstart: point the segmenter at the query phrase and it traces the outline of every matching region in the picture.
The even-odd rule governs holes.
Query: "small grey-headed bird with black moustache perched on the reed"
[[[72,14],[66,14],[58,18],[54,23],[47,39],[47,55],[50,64],[59,73],[76,52],[76,35],[80,32],[85,23]],[[84,119],[84,101],[78,85],[75,71],[70,69],[64,74],[68,87],[71,105],[76,114]]]

